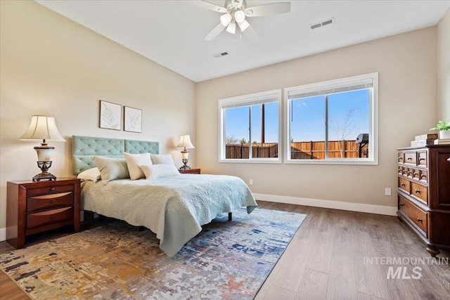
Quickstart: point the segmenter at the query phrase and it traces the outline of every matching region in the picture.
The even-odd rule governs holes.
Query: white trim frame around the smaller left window
[[[251,102],[252,98],[264,98],[276,94],[274,98],[278,101],[278,157],[276,158],[263,158],[255,157],[250,159],[225,159],[225,137],[224,137],[224,109],[222,107],[226,105],[233,105],[236,103]],[[268,97],[269,98],[269,97]],[[219,162],[228,163],[244,163],[244,164],[281,164],[283,155],[283,105],[281,101],[281,89],[275,89],[271,91],[262,91],[259,93],[251,93],[243,96],[236,96],[231,98],[219,99]]]

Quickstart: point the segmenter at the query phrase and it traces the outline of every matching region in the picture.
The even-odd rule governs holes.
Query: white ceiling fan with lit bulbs
[[[223,13],[220,16],[219,25],[214,27],[203,39],[211,41],[226,29],[231,34],[236,33],[236,25],[241,32],[250,41],[258,41],[259,35],[250,23],[245,20],[250,17],[263,17],[266,15],[278,15],[281,13],[289,13],[290,2],[277,2],[271,4],[262,4],[259,6],[247,7],[245,0],[226,0],[224,7],[212,4],[207,1],[196,1],[198,6]]]

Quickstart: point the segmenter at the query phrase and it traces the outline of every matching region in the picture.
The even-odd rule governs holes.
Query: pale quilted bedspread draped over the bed
[[[160,248],[174,256],[217,214],[257,206],[244,181],[235,176],[182,174],[155,180],[129,179],[82,183],[82,207],[103,216],[145,226]]]

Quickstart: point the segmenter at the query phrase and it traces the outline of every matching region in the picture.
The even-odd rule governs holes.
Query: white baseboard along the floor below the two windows
[[[327,209],[342,209],[347,211],[368,212],[370,214],[385,214],[387,216],[396,216],[397,207],[385,207],[381,205],[340,202],[331,200],[320,200],[311,198],[253,194],[255,199],[269,202],[278,202],[286,204],[306,205],[307,207],[323,207]]]

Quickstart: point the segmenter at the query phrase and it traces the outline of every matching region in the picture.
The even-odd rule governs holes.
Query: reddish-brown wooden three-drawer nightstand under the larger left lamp
[[[27,235],[70,225],[79,232],[80,183],[76,178],[8,181],[6,242],[20,249]]]

